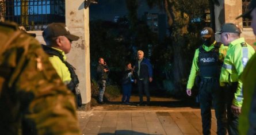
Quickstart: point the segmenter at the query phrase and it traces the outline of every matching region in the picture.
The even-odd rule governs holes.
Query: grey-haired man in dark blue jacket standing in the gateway
[[[140,102],[143,104],[143,90],[147,96],[147,104],[150,104],[150,91],[148,90],[148,84],[153,80],[153,70],[150,60],[144,58],[144,52],[137,51],[137,61],[135,63],[135,83],[137,83],[139,89]]]

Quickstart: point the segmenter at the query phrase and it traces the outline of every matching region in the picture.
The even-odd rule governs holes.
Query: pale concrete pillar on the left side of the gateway
[[[78,41],[72,43],[67,61],[76,68],[82,101],[87,110],[91,101],[89,8],[84,9],[84,0],[66,0],[65,2],[66,25],[71,33],[80,37]]]

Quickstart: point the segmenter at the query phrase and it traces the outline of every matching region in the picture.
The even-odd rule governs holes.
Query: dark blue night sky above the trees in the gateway
[[[113,21],[115,16],[123,17],[128,15],[125,0],[98,0],[98,4],[91,4],[90,20],[107,20]],[[158,8],[150,9],[146,0],[139,0],[138,17],[140,18],[144,12],[163,13]]]

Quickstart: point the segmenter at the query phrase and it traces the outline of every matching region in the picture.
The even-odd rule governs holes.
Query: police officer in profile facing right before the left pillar
[[[78,90],[78,77],[75,68],[66,61],[66,54],[71,50],[72,41],[77,41],[78,36],[71,34],[63,23],[52,23],[44,29],[43,37],[46,45],[44,51],[49,55],[49,61],[56,69],[62,81],[76,95],[77,105],[82,105],[82,99]]]

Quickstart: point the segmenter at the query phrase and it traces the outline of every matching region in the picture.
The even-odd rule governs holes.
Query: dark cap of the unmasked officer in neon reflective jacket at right
[[[224,25],[221,26],[221,30],[220,32],[216,32],[216,34],[221,34],[223,32],[228,32],[228,33],[241,33],[241,30],[238,28],[238,26],[236,26],[233,23],[226,23]]]

